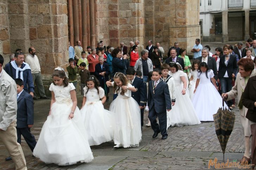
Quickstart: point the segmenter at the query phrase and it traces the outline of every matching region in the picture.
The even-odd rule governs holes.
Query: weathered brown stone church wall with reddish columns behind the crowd
[[[68,41],[113,47],[139,40],[160,42],[167,51],[174,42],[190,49],[200,37],[199,0],[1,0],[0,54],[5,63],[20,48],[34,46],[41,73],[51,75],[68,64]]]

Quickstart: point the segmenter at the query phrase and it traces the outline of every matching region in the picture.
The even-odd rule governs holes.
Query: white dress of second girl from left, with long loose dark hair
[[[90,146],[113,140],[115,113],[103,107],[100,98],[104,97],[104,89],[99,87],[99,94],[96,88],[83,90],[86,102],[80,111]]]

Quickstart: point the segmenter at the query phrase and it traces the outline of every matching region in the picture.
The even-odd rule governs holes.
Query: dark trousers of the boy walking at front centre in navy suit
[[[158,117],[159,124],[156,122],[156,117]],[[148,118],[151,123],[151,128],[154,132],[161,131],[161,135],[167,136],[167,114],[166,111],[164,113],[157,113],[155,111],[155,106],[153,105],[152,109],[148,112]]]

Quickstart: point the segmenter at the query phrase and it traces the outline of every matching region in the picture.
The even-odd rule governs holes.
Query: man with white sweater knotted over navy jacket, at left
[[[14,54],[14,59],[14,61],[5,65],[5,72],[13,79],[22,79],[24,82],[24,90],[34,96],[34,82],[31,68],[24,62],[23,52],[16,52]]]

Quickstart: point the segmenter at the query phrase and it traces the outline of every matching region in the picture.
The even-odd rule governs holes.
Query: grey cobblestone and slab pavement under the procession
[[[110,90],[111,91],[111,90]],[[111,96],[111,95],[110,95]],[[82,96],[78,95],[78,107],[81,107]],[[112,101],[110,99],[110,101]],[[108,109],[111,102],[105,103]],[[39,137],[41,127],[49,112],[50,100],[35,101],[34,127],[31,129]],[[237,107],[235,128],[231,133],[226,147],[225,159],[229,161],[242,158],[244,151],[243,132]],[[144,124],[147,123],[145,111]],[[215,134],[213,122],[186,127],[172,127],[168,129],[167,140],[161,140],[161,135],[152,138],[153,130],[143,127],[142,141],[139,147],[113,149],[114,142],[106,142],[92,146],[94,160],[91,163],[77,163],[70,166],[45,164],[38,158],[32,157],[25,140],[21,146],[27,161],[28,169],[208,169],[209,159],[218,158],[223,161],[223,154]],[[13,161],[5,161],[8,152],[0,140],[0,169],[14,169]],[[211,169],[214,169],[211,167]],[[236,169],[236,168],[233,168]]]

